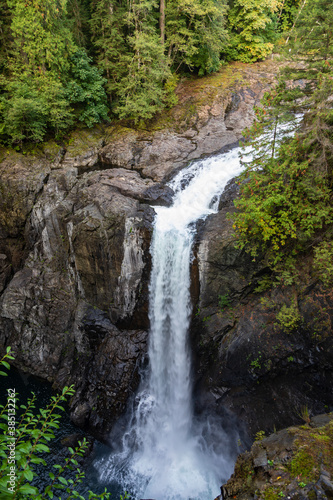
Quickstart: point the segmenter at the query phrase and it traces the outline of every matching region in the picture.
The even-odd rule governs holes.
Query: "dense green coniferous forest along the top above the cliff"
[[[301,0],[1,0],[0,137],[137,123],[176,103],[181,75],[267,57]]]

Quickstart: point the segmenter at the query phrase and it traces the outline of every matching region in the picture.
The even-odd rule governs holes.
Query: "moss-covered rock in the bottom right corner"
[[[324,425],[317,421],[272,434],[239,455],[222,487],[224,500],[333,498],[333,413],[320,416]],[[266,456],[260,464],[258,446]]]

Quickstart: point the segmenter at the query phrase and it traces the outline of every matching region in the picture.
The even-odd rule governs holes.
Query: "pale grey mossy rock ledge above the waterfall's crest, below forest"
[[[161,182],[189,161],[235,144],[254,120],[253,106],[275,81],[276,68],[269,63],[264,66],[244,72],[237,68],[242,73],[239,81],[229,89],[221,83],[214,90],[209,87],[209,100],[205,96],[203,102],[197,102],[196,96],[182,96],[164,130],[111,128],[99,151],[100,165],[137,170],[143,177]]]

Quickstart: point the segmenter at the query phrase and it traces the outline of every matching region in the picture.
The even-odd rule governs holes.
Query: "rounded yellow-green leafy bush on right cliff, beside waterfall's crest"
[[[240,247],[251,244],[252,255],[259,246],[272,249],[274,261],[290,240],[306,239],[332,220],[327,181],[311,168],[296,137],[282,145],[279,158],[266,161],[262,170],[247,167],[241,180],[240,212],[234,228]],[[304,159],[303,159],[304,158]]]

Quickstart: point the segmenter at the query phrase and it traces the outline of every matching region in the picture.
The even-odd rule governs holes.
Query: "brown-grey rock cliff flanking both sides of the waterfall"
[[[1,151],[1,347],[56,387],[74,383],[72,418],[100,439],[146,356],[153,206],[171,202],[165,182],[179,168],[241,137],[275,71],[236,64],[183,82],[179,104],[146,130],[117,124]],[[192,268],[197,402],[227,406],[256,432],[290,424],[295,397],[314,411],[332,404],[332,297],[315,280],[296,299],[253,294],[264,269],[234,248],[230,189],[201,224]],[[292,335],[275,319],[291,300],[305,318]]]

